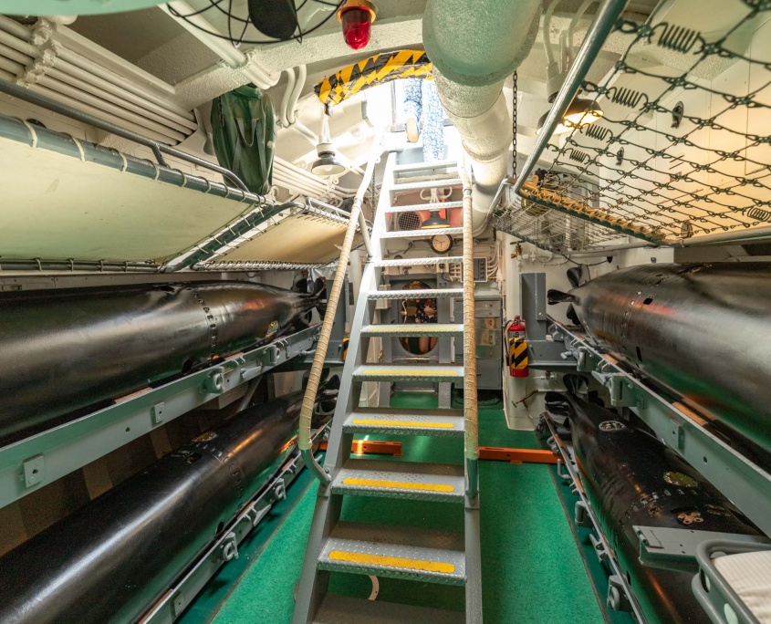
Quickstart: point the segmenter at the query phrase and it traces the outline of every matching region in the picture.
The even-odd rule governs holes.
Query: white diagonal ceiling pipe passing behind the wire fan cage
[[[214,26],[201,15],[200,11],[193,10],[183,0],[172,0],[172,2],[166,5],[160,5],[159,8],[203,43],[204,46],[212,50],[214,54],[222,58],[230,68],[241,72],[245,78],[253,82],[257,87],[274,87],[278,79],[281,78],[281,72],[271,74],[265,68],[259,66],[255,57],[257,54],[255,50],[250,50],[245,54],[234,47],[226,37],[222,37],[216,31]]]

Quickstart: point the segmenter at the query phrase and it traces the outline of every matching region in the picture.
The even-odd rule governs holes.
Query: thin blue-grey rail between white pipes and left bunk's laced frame
[[[98,117],[89,115],[89,113],[82,112],[78,109],[73,109],[66,104],[61,104],[53,99],[39,95],[38,93],[30,91],[27,88],[6,82],[5,80],[0,80],[0,93],[5,93],[5,95],[9,95],[13,98],[23,99],[24,101],[29,102],[30,104],[35,104],[36,106],[39,106],[43,109],[64,115],[65,117],[68,117],[72,120],[87,123],[89,126],[93,126],[99,130],[104,130],[110,134],[115,134],[116,136],[122,137],[123,139],[128,139],[134,143],[138,143],[139,145],[144,145],[145,147],[151,149],[155,159],[158,161],[158,164],[160,164],[162,167],[169,166],[163,158],[163,154],[165,153],[169,156],[173,156],[174,158],[178,158],[181,161],[192,162],[194,165],[203,167],[204,169],[209,169],[213,172],[217,172],[233,182],[239,189],[241,189],[241,191],[249,192],[249,189],[246,187],[245,183],[242,182],[241,178],[239,178],[229,169],[225,169],[224,167],[220,167],[219,165],[214,164],[214,162],[204,161],[203,158],[198,158],[197,156],[193,156],[192,154],[188,154],[182,150],[177,150],[176,148],[173,148],[171,145],[167,145],[166,143],[148,139],[147,137],[142,136],[137,132],[126,130],[125,128],[121,128],[120,126],[117,126],[114,123],[110,123],[109,121],[100,120]]]

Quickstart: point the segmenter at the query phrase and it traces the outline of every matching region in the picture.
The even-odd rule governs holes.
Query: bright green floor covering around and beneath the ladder
[[[394,396],[391,403],[430,408],[435,406],[435,395],[402,393]],[[506,428],[500,407],[481,408],[479,417],[480,444],[537,448],[532,432],[512,432]],[[453,447],[461,441],[436,444],[437,440],[440,439],[402,438],[405,458],[425,462],[453,461],[461,456],[460,447]],[[217,594],[221,595],[220,601],[224,595],[227,598],[214,617],[216,624],[290,621],[293,591],[302,566],[317,488],[307,474],[303,477],[282,503],[285,513],[272,520],[273,527],[262,531],[262,538],[252,546],[253,555],[246,556],[248,561],[241,562],[238,570],[230,573],[231,582],[240,577],[233,591],[228,594],[227,579],[219,579],[219,591],[209,590],[203,605],[189,609],[187,621],[210,619],[211,615],[207,617],[206,613],[214,612],[211,603]],[[480,488],[485,623],[603,622],[549,468],[483,462]],[[456,530],[463,522],[456,505],[367,497],[349,497],[343,519],[382,523],[399,519],[402,524]],[[330,586],[337,593],[359,597],[368,596],[371,588],[368,577],[355,575],[333,576]],[[428,583],[416,587],[414,583],[382,578],[379,598],[462,609],[462,592],[462,588]]]

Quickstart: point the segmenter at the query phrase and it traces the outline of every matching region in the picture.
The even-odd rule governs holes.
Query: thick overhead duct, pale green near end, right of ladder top
[[[474,234],[484,229],[507,173],[511,115],[503,95],[533,47],[538,0],[428,0],[423,43],[439,99],[463,140],[474,172]],[[503,131],[502,131],[503,129]]]

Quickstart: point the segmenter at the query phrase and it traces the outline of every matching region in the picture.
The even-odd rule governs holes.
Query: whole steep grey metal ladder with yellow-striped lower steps
[[[457,168],[458,178],[410,181],[417,172]],[[398,179],[397,179],[398,178]],[[464,185],[464,202],[393,206],[394,193],[451,185]],[[464,227],[433,230],[388,231],[389,213],[412,210],[442,210],[464,207]],[[388,241],[424,239],[434,234],[464,236],[464,255],[383,259]],[[472,272],[471,190],[463,168],[454,163],[396,165],[391,154],[380,192],[380,202],[371,237],[371,257],[362,276],[354,313],[348,357],[343,370],[339,400],[328,442],[324,473],[313,516],[302,575],[297,589],[294,624],[385,624],[419,622],[451,624],[482,622],[482,587],[479,547],[479,503],[476,462],[476,362],[474,348],[474,278]],[[381,289],[383,272],[389,267],[464,263],[463,288],[429,290]],[[398,325],[391,307],[383,299],[436,298],[449,314],[453,298],[464,300],[464,323]],[[446,301],[445,301],[446,300]],[[443,321],[440,313],[439,320]],[[438,363],[391,362],[392,337],[437,337]],[[464,339],[464,365],[452,360],[451,340]],[[368,363],[370,340],[383,339],[385,361]],[[464,380],[464,410],[450,409],[450,384]],[[380,407],[360,404],[362,384],[380,383]],[[443,388],[440,409],[405,410],[388,407],[393,382],[435,382]],[[440,393],[442,395],[442,393]],[[383,406],[384,405],[384,406]],[[458,463],[414,463],[361,459],[351,455],[354,436],[426,436],[429,443],[440,437],[464,438],[464,457]],[[464,532],[417,529],[405,525],[376,525],[340,519],[343,501],[352,496],[377,496],[422,501],[422,504],[462,505]],[[441,583],[464,587],[465,613],[328,593],[330,574],[392,577],[418,583]],[[413,600],[419,602],[419,600]]]

